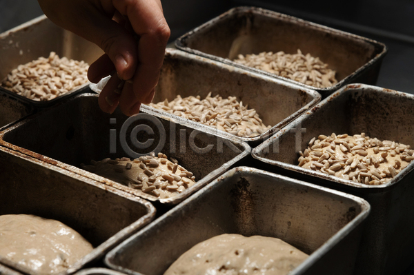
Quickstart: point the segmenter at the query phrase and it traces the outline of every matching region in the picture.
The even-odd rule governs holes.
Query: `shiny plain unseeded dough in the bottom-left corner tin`
[[[92,249],[59,221],[25,214],[0,216],[0,255],[34,272],[63,272]]]

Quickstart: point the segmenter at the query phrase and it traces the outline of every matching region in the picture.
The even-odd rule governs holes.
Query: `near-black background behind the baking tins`
[[[59,0],[56,0],[59,1]],[[174,41],[234,6],[259,6],[385,43],[377,85],[414,94],[414,0],[164,0]],[[0,0],[0,32],[43,14],[36,0]],[[414,260],[414,259],[413,259]],[[404,275],[414,275],[414,266]]]

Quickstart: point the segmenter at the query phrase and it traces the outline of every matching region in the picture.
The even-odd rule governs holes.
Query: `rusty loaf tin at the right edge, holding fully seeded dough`
[[[306,129],[296,143],[296,127]],[[388,183],[364,185],[297,166],[319,134],[360,134],[414,145],[414,96],[370,85],[347,85],[253,150],[256,166],[360,196],[371,204],[357,274],[400,274],[413,262],[414,162]]]

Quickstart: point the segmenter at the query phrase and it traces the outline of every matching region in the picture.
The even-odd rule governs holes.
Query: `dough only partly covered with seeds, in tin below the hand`
[[[178,165],[176,159],[174,161],[177,163],[159,153],[133,161],[128,158],[91,161],[91,165],[82,165],[82,168],[146,194],[170,198],[195,184],[193,173]]]

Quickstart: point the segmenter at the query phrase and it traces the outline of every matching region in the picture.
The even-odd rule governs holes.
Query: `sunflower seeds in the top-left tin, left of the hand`
[[[12,70],[1,85],[33,101],[48,101],[88,82],[88,63],[50,52]]]

